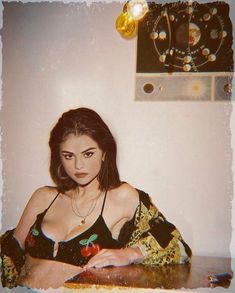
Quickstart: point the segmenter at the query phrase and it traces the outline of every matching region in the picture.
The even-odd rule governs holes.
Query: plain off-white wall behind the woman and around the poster
[[[118,2],[4,6],[3,230],[34,189],[52,184],[55,121],[88,106],[113,130],[122,180],[151,194],[195,255],[229,256],[232,104],[135,102],[136,39],[115,30]]]

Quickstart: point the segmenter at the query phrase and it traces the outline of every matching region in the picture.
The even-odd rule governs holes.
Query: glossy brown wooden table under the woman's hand
[[[211,284],[210,273],[227,272],[233,275],[229,258],[194,256],[191,264],[168,265],[163,267],[129,265],[91,269],[68,280],[66,288],[164,288],[194,289],[222,286],[228,288],[230,281]]]

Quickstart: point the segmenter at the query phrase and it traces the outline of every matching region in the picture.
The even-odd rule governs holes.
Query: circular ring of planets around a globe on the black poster
[[[149,37],[158,62],[195,72],[218,61],[228,32],[216,6],[193,2],[163,7]]]

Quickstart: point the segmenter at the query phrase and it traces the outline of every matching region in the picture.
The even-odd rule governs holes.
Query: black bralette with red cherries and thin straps
[[[37,219],[31,226],[25,240],[25,253],[35,258],[83,266],[100,249],[120,247],[119,241],[112,238],[112,234],[102,216],[107,192],[104,196],[101,213],[90,228],[66,241],[56,242],[48,238],[42,231],[42,221],[58,195],[59,193],[44,212],[37,215]],[[58,249],[55,250],[55,248]]]

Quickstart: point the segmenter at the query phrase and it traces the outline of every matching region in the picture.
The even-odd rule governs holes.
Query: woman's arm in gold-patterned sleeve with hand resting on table
[[[132,198],[133,199],[133,198]],[[85,268],[130,263],[176,264],[190,261],[191,249],[174,225],[152,204],[150,197],[139,192],[139,205],[133,218],[122,227],[118,240],[121,249],[102,249]]]

